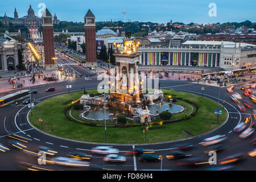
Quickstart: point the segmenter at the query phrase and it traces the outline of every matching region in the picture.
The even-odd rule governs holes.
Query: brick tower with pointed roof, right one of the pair
[[[95,16],[88,10],[84,16],[85,56],[87,67],[97,67]]]

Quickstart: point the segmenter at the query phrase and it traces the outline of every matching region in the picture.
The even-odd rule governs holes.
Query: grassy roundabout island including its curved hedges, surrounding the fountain
[[[217,107],[217,103],[208,98],[201,98],[195,94],[175,90],[163,90],[166,100],[168,100],[168,96],[170,95],[175,96],[177,97],[177,104],[183,105],[186,109],[183,113],[173,114],[171,119],[168,120],[163,120],[159,117],[151,120],[148,123],[150,127],[147,131],[146,143],[167,142],[170,140],[195,137],[196,135],[201,135],[215,129],[226,121],[228,114],[221,106],[224,112],[220,115],[220,122],[217,125],[217,115],[213,113],[213,110]],[[95,92],[97,90],[88,90],[88,93],[91,94]],[[56,135],[57,137],[83,142],[115,144],[145,143],[142,129],[146,124],[139,121],[129,121],[122,127],[115,125],[115,121],[108,122],[108,141],[105,142],[104,121],[86,121],[79,117],[79,111],[72,109],[72,102],[77,101],[81,97],[81,94],[81,92],[64,94],[49,98],[36,105],[32,111],[39,111],[43,115],[43,131],[51,135]],[[67,103],[67,101],[70,102]],[[198,111],[189,102],[196,103],[195,105],[198,104]],[[69,108],[66,113],[67,115],[63,111],[66,107]],[[102,114],[104,115],[104,112]],[[39,122],[40,115],[38,113],[32,112],[28,114],[28,118],[32,125],[39,130],[42,129],[42,123]]]

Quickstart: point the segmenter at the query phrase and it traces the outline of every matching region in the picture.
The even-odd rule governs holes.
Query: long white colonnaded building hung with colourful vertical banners
[[[138,51],[142,53],[142,65],[219,67],[230,71],[256,63],[256,47],[245,43],[187,41],[180,47],[142,46]]]

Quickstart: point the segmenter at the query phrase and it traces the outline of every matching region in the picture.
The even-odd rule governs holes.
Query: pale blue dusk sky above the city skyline
[[[121,11],[127,11],[126,21],[168,23],[225,23],[256,22],[255,0],[9,0],[1,1],[0,16],[14,17],[14,8],[19,18],[27,15],[31,5],[38,16],[39,3],[46,4],[52,15],[56,13],[61,21],[84,22],[88,9],[96,21],[123,20]],[[216,16],[209,16],[210,3],[216,4]]]

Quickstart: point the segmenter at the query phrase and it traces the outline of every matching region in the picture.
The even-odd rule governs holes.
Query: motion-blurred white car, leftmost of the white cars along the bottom
[[[51,159],[55,164],[61,166],[73,166],[73,167],[85,167],[89,166],[89,162],[85,162],[79,159],[65,158],[65,157],[56,157]]]

